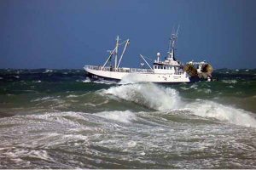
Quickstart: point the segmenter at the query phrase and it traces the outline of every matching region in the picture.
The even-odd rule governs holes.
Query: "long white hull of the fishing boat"
[[[189,75],[184,72],[183,74],[168,74],[168,73],[154,73],[154,72],[118,72],[118,71],[101,71],[84,68],[86,72],[94,79],[113,79],[116,81],[125,82],[190,82]]]

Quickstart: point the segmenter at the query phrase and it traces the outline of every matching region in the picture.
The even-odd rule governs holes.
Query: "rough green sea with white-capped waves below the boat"
[[[91,82],[0,70],[0,168],[256,168],[256,70],[214,82]]]

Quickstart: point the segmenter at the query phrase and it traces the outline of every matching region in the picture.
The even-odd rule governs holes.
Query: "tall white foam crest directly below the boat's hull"
[[[120,99],[129,100],[158,111],[171,110],[180,104],[180,97],[175,89],[162,88],[153,83],[126,84],[108,88],[103,93],[113,94]]]

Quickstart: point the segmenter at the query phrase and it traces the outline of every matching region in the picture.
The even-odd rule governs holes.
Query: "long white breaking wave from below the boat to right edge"
[[[256,127],[256,119],[249,111],[221,105],[210,100],[185,101],[177,90],[160,87],[154,83],[121,85],[103,90],[103,94],[111,94],[119,99],[125,99],[156,111],[185,110],[195,116],[214,118],[245,127]]]

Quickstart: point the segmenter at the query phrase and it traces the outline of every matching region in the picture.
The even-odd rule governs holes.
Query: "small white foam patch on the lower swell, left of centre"
[[[129,123],[132,120],[136,120],[135,114],[131,111],[103,111],[96,113],[96,116],[125,123]]]

